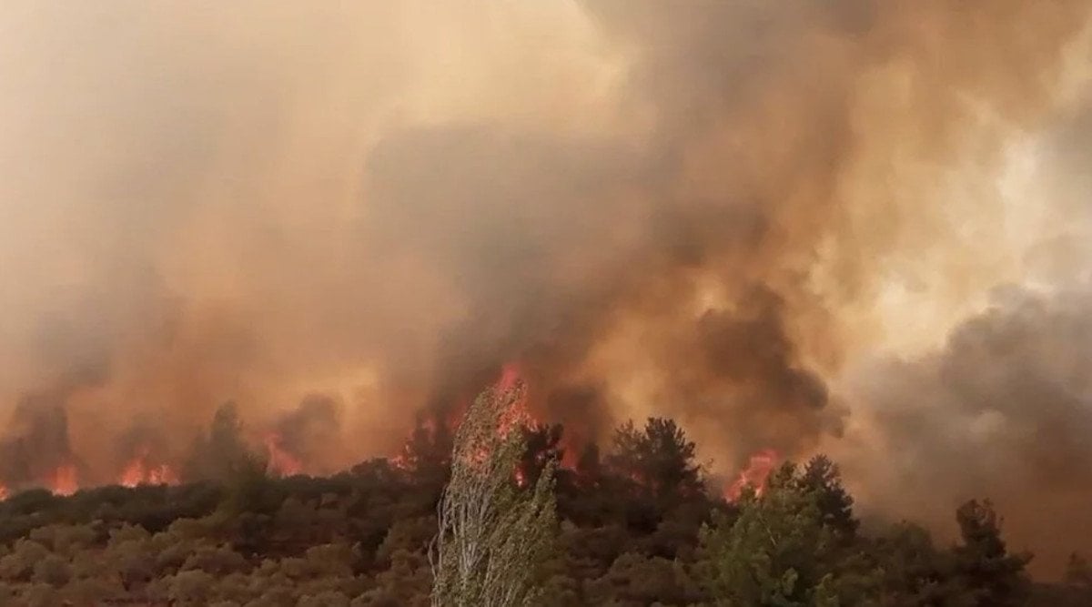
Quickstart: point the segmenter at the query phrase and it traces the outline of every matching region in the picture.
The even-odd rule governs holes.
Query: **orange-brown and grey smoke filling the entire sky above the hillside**
[[[1056,569],[1092,543],[1090,19],[4,2],[0,415],[64,412],[106,478],[228,400],[336,409],[345,463],[518,361],[583,440],[823,449],[885,515],[995,497]]]

